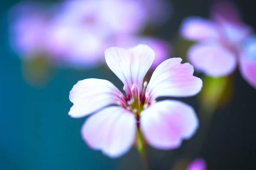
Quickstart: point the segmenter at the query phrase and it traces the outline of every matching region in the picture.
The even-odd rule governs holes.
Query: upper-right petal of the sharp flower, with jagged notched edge
[[[159,96],[193,96],[202,88],[202,80],[193,76],[193,66],[181,64],[181,58],[162,62],[152,74],[146,93],[152,99]]]

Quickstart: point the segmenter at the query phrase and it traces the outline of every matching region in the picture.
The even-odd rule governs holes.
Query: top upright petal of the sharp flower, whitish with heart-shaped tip
[[[105,51],[108,67],[129,89],[134,84],[141,87],[154,55],[148,45],[142,44],[130,49],[111,47]]]

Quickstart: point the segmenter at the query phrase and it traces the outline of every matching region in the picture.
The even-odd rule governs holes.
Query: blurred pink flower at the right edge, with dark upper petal
[[[197,70],[212,77],[227,76],[239,64],[244,78],[255,87],[255,69],[245,64],[245,60],[251,58],[245,57],[246,51],[256,48],[253,47],[255,43],[247,40],[253,32],[252,28],[242,23],[237,8],[228,1],[214,4],[211,16],[212,20],[189,17],[183,21],[182,36],[198,41],[188,51],[189,61]],[[246,69],[251,74],[245,73],[244,65],[248,66]]]

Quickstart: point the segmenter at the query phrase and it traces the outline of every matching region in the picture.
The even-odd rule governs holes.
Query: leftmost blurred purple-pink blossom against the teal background
[[[9,12],[10,44],[23,57],[42,53],[45,44],[47,14],[37,3],[19,3]]]

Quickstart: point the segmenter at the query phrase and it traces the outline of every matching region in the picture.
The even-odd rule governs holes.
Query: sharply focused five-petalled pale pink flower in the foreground
[[[159,96],[186,97],[201,91],[202,80],[193,76],[192,65],[181,64],[180,58],[167,59],[147,83],[143,78],[154,60],[148,45],[108,48],[105,60],[123,82],[126,95],[104,79],[81,80],[70,91],[71,117],[95,113],[81,128],[89,147],[116,158],[128,152],[136,133],[164,150],[179,147],[195,133],[198,119],[191,106],[171,99],[156,102]]]

